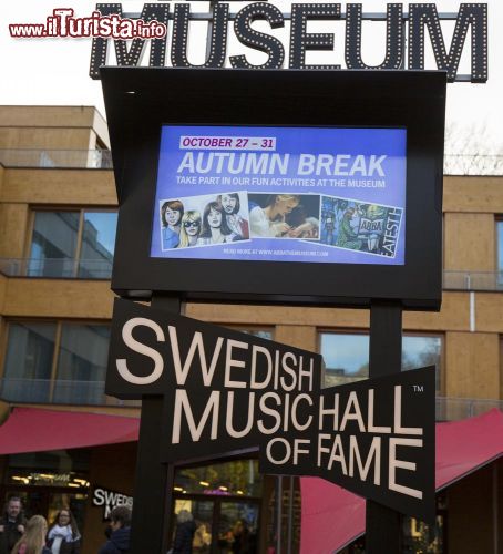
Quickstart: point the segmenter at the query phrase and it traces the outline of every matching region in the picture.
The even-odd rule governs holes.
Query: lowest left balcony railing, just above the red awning
[[[104,392],[104,381],[66,379],[0,380],[0,399],[4,402],[80,406],[141,406],[140,400],[119,400]]]

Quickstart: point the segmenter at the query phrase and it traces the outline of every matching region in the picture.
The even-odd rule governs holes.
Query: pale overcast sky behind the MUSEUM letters
[[[271,0],[281,11],[290,11],[290,2]],[[125,0],[122,2],[124,12],[140,12],[143,2]],[[207,11],[206,2],[194,2],[193,11]],[[232,2],[236,10],[244,3]],[[458,12],[460,2],[439,0],[439,12]],[[0,85],[1,104],[29,105],[95,105],[104,115],[101,84],[89,78],[91,55],[91,39],[43,39],[19,40],[9,35],[9,23],[44,22],[54,8],[74,8],[79,17],[90,16],[95,2],[23,0],[19,2],[2,2],[2,27],[0,31],[0,51],[2,52],[2,83]],[[343,9],[343,6],[342,6]],[[372,0],[363,2],[363,12],[384,11],[386,2]],[[404,6],[407,10],[407,4]],[[448,86],[446,119],[450,127],[456,130],[458,136],[480,136],[474,147],[486,154],[503,152],[503,60],[501,34],[503,29],[503,6],[501,1],[489,1],[489,81],[485,84],[455,83]],[[258,22],[264,31],[278,37],[288,48],[288,29],[270,31],[267,24]],[[309,23],[308,31],[333,32],[335,51],[309,53],[309,63],[343,64],[343,22]],[[444,27],[444,37],[450,44],[453,24]],[[193,63],[202,63],[204,42],[195,38],[204,38],[204,30],[193,33],[189,43],[189,57]],[[380,63],[383,59],[383,23],[368,22],[363,27],[363,59],[367,63]],[[170,30],[168,30],[170,34]],[[233,31],[229,30],[233,35]],[[470,39],[468,40],[470,42]],[[260,63],[260,55],[249,49],[229,43],[228,51],[233,54],[252,54],[252,61]],[[256,55],[256,59],[253,58]],[[469,73],[470,48],[465,48],[462,58],[462,72]],[[115,58],[110,57],[110,63],[115,64]],[[256,61],[255,61],[256,60]],[[434,69],[432,64],[428,69]],[[482,132],[483,131],[483,132]],[[472,140],[472,143],[474,141]]]

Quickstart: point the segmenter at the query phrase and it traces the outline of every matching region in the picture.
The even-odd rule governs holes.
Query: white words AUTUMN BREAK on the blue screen
[[[296,168],[289,170],[290,154],[186,152],[178,165],[177,173],[287,175],[294,171],[297,175],[384,177],[382,164],[387,157],[374,154],[369,156],[361,154],[356,156],[350,154],[299,154],[292,156],[297,164]]]

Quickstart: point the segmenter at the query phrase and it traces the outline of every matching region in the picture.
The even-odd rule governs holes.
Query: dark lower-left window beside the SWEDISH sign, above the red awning
[[[10,322],[1,398],[104,403],[109,341],[107,325]]]

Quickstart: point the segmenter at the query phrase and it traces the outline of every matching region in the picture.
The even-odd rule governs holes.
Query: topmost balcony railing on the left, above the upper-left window
[[[4,167],[71,167],[78,170],[112,170],[110,150],[28,150],[0,148]]]

